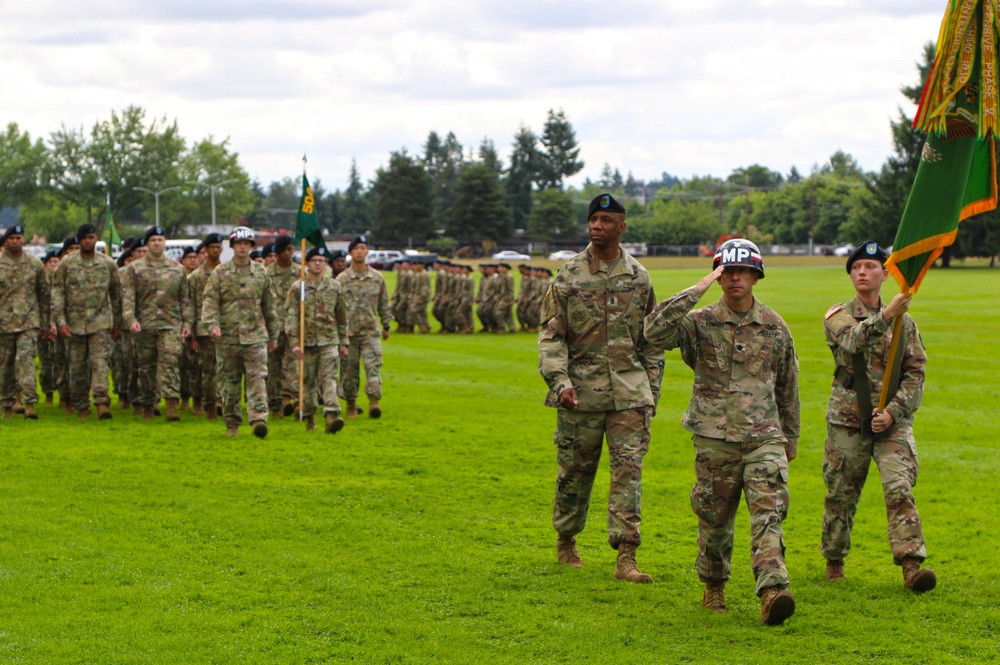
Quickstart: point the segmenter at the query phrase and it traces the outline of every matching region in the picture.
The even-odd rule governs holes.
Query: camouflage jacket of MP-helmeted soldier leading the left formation
[[[213,270],[205,285],[201,324],[209,331],[218,326],[227,344],[277,342],[280,323],[264,266],[227,261]]]

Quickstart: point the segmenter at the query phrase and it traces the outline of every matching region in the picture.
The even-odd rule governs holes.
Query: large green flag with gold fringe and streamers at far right
[[[961,221],[997,207],[996,0],[951,0],[913,126],[928,133],[885,267],[916,293]]]

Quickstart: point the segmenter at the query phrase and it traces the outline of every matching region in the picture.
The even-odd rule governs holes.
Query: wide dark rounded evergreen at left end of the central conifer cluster
[[[434,233],[434,194],[430,175],[406,149],[389,156],[388,168],[375,172],[375,234],[381,240],[423,244]]]

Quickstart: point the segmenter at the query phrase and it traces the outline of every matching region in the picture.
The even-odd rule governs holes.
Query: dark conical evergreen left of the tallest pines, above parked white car
[[[485,162],[463,168],[446,218],[447,235],[463,242],[505,240],[511,234],[511,219],[495,168]]]

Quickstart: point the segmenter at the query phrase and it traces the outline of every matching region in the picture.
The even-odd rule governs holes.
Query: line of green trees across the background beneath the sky
[[[933,62],[927,44],[920,79],[901,89],[914,105]],[[453,132],[430,131],[415,153],[390,153],[367,182],[352,161],[347,186],[328,190],[312,178],[320,225],[330,234],[369,232],[379,243],[429,247],[447,253],[463,245],[518,239],[577,246],[586,242],[587,203],[610,191],[629,209],[625,239],[654,245],[712,243],[739,233],[763,244],[834,245],[874,239],[891,244],[919,164],[924,137],[902,108],[890,123],[893,154],[878,172],[865,172],[837,151],[808,174],[782,174],[760,164],[724,177],[658,179],[625,176],[604,164],[596,180],[567,180],[584,162],[562,109],[550,109],[542,131],[522,126],[506,159],[490,138],[463,146]],[[85,132],[65,126],[46,141],[11,123],[0,134],[0,208],[16,206],[29,228],[53,237],[103,215],[107,194],[118,223],[136,227],[154,216],[154,197],[133,187],[169,190],[160,218],[171,234],[211,219],[216,190],[220,223],[292,228],[301,194],[298,176],[267,186],[252,180],[228,139],[188,142],[177,123],[147,120],[130,106]],[[1000,252],[1000,214],[967,220],[957,256]]]

